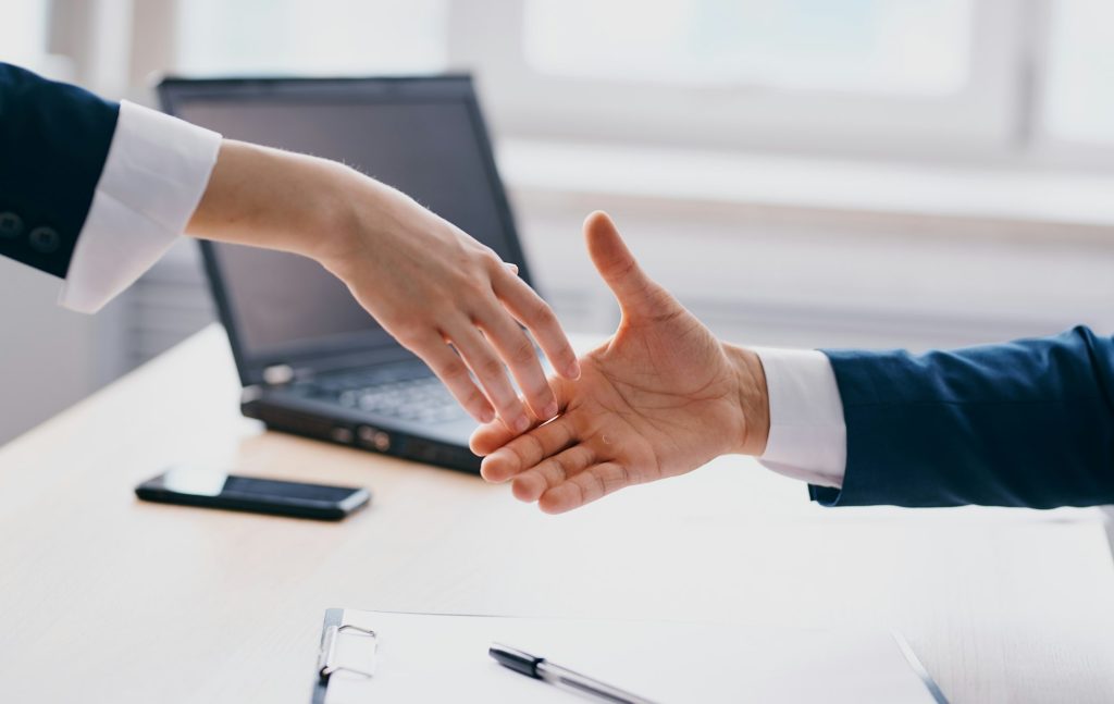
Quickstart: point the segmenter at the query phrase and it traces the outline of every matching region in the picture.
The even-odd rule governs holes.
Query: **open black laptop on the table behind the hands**
[[[170,78],[163,109],[227,138],[349,164],[518,264],[534,285],[468,76]],[[267,428],[465,471],[476,422],[319,264],[202,243],[243,384]]]

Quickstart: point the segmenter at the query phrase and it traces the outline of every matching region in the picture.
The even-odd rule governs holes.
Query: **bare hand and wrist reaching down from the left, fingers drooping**
[[[557,317],[514,265],[405,195],[340,164],[226,140],[189,231],[316,260],[480,422],[498,412],[508,429],[521,432],[531,417],[557,413],[518,323],[558,374],[579,375]]]

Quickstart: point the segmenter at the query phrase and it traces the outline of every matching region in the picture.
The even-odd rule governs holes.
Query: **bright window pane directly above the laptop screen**
[[[448,0],[177,4],[177,69],[187,74],[401,74],[446,65]]]

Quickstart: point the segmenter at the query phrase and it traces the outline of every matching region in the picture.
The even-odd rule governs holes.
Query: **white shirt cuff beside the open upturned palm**
[[[765,467],[821,487],[842,487],[847,426],[836,372],[815,350],[755,349],[770,394]]]

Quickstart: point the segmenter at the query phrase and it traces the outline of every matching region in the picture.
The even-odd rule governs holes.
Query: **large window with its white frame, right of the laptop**
[[[504,134],[934,159],[1016,146],[1016,0],[472,0]]]

